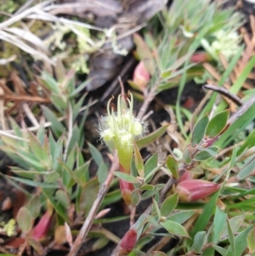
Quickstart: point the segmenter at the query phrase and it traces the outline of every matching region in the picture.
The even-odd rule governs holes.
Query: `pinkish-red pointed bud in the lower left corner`
[[[47,235],[48,230],[51,226],[51,216],[52,216],[52,211],[50,212],[47,211],[42,215],[42,218],[39,220],[37,225],[32,230],[31,237],[34,240],[40,240]]]

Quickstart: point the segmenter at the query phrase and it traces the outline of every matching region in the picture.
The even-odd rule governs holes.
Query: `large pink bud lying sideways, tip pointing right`
[[[176,186],[178,198],[184,202],[201,200],[218,191],[220,185],[202,179],[186,179]]]

